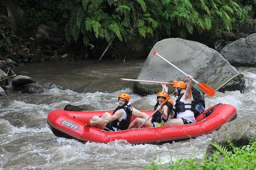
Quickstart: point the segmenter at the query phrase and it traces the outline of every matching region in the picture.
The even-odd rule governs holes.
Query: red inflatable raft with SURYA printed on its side
[[[211,109],[211,110],[210,110]],[[210,115],[209,112],[211,111]],[[187,125],[169,125],[155,128],[133,128],[119,132],[106,132],[99,128],[89,127],[85,120],[93,115],[101,116],[106,111],[64,111],[54,110],[48,114],[49,128],[58,137],[76,139],[82,142],[109,143],[115,140],[126,140],[130,144],[167,143],[175,140],[202,136],[218,130],[223,124],[236,119],[236,108],[229,104],[219,104],[205,110],[196,117],[196,123]],[[108,111],[112,113],[113,111]],[[153,111],[143,111],[148,115]],[[207,113],[208,112],[208,113]],[[207,113],[207,114],[206,114]],[[205,117],[205,115],[208,115]],[[204,118],[205,117],[205,118]],[[133,121],[135,117],[132,117]]]

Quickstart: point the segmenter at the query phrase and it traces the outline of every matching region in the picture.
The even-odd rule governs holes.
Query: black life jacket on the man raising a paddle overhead
[[[180,101],[181,97],[184,95],[184,93],[182,93],[181,95],[179,95],[178,99],[176,100],[175,103],[175,114],[179,114],[179,112],[184,112],[186,110],[191,110],[194,112],[195,114],[198,114],[198,111],[196,110],[196,104],[198,104],[198,102],[196,101],[196,97],[194,96],[193,92],[192,92],[192,96],[193,96],[193,100],[191,101],[191,104],[185,104],[184,102]],[[185,108],[185,105],[191,105],[191,108]]]

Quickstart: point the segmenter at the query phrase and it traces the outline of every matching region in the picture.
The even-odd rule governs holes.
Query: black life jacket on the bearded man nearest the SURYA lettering
[[[115,114],[115,112],[120,109],[124,109],[124,111],[126,111],[126,115],[127,115],[126,119],[122,119],[121,121],[116,119],[116,120],[113,120],[112,122],[109,122],[109,127],[111,128],[109,130],[115,131],[112,127],[117,128],[117,131],[128,129],[130,120],[132,119],[132,106],[130,104],[123,106],[123,107],[117,106],[116,109],[114,110],[113,114]],[[118,124],[118,122],[119,122],[119,124]]]

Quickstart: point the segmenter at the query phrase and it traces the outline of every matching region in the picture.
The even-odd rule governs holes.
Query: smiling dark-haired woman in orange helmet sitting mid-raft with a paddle
[[[161,103],[165,101],[167,98],[167,93],[161,91],[157,94],[157,104],[155,105],[155,110],[158,110],[153,116],[152,119],[148,120],[143,127],[159,127],[163,126],[164,122],[168,119],[170,112],[172,111],[171,104],[166,102],[163,107]],[[146,119],[136,117],[132,123],[130,123],[129,128],[134,128],[135,126],[138,128]]]

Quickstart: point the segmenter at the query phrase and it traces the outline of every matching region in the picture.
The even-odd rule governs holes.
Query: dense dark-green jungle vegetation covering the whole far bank
[[[255,0],[10,0],[24,12],[23,25],[13,27],[8,1],[1,0],[0,51],[11,51],[14,36],[35,32],[39,24],[55,25],[77,46],[97,40],[126,43],[140,36],[148,47],[169,37],[218,37],[251,26]],[[10,2],[9,1],[9,2]],[[10,8],[10,6],[9,6]],[[10,10],[10,9],[9,9]]]

